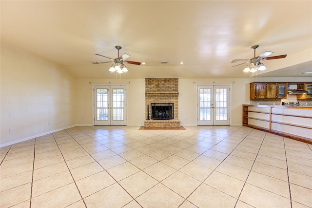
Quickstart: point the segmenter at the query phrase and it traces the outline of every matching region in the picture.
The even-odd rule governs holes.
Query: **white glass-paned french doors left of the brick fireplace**
[[[94,125],[126,125],[126,86],[94,86]]]

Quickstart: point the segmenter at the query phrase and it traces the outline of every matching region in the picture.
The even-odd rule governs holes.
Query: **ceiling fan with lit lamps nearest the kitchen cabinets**
[[[231,63],[235,63],[235,62],[239,62],[239,61],[248,61],[248,62],[244,62],[244,63],[240,63],[234,66],[238,66],[241,64],[247,64],[246,68],[244,69],[244,72],[256,72],[257,70],[265,70],[267,69],[263,63],[261,63],[260,61],[265,61],[265,60],[271,60],[271,59],[283,59],[287,56],[287,54],[285,55],[279,55],[279,56],[271,56],[271,57],[267,57],[270,56],[271,54],[273,54],[272,51],[266,51],[263,54],[259,55],[259,56],[255,56],[255,49],[259,47],[259,45],[254,45],[252,46],[252,49],[254,49],[254,58],[248,60],[248,59],[234,59]],[[234,67],[232,66],[232,67]]]

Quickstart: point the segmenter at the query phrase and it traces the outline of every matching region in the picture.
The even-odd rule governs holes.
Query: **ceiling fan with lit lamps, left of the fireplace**
[[[99,64],[99,63],[114,63],[112,64],[111,68],[109,69],[110,71],[114,72],[118,72],[118,73],[123,73],[123,72],[127,72],[128,69],[126,68],[126,65],[124,63],[130,63],[130,64],[136,64],[136,65],[140,65],[141,63],[140,62],[133,62],[133,61],[125,61],[126,59],[128,59],[130,57],[130,55],[128,54],[123,54],[122,56],[119,57],[119,50],[121,49],[121,46],[119,45],[116,45],[115,48],[118,50],[118,56],[116,59],[113,59],[113,58],[110,58],[110,57],[107,57],[107,56],[103,56],[103,55],[100,55],[100,54],[96,54],[98,56],[101,56],[101,57],[104,57],[104,58],[107,58],[107,59],[110,59],[112,61],[109,61],[109,62],[92,62],[93,64]]]

